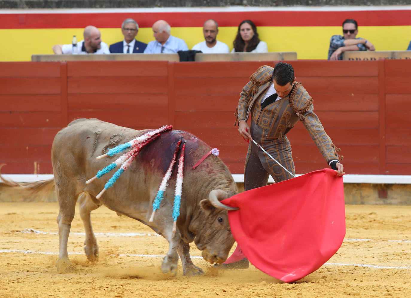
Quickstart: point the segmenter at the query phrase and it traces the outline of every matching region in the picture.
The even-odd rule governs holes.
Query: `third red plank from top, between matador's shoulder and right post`
[[[378,111],[378,94],[314,92],[314,111]]]

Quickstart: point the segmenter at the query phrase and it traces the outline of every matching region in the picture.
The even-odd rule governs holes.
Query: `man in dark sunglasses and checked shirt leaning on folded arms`
[[[374,45],[367,39],[356,37],[358,34],[358,24],[356,20],[347,18],[342,23],[342,35],[333,35],[330,39],[328,49],[328,60],[342,60],[342,53],[345,51],[365,51],[375,50]]]

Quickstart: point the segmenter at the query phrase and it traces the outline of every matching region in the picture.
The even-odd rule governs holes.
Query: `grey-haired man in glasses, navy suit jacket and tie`
[[[147,44],[136,40],[139,33],[139,24],[132,18],[127,18],[121,24],[121,33],[124,35],[124,40],[112,44],[109,48],[110,53],[143,53]]]

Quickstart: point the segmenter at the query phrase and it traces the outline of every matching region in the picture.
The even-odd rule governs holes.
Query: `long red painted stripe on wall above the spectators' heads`
[[[81,14],[0,14],[0,29],[19,28],[118,28],[125,18],[134,18],[142,28],[164,19],[171,27],[201,27],[208,18],[219,26],[238,26],[245,19],[257,26],[341,26],[346,18],[355,19],[359,26],[411,25],[410,10],[368,11],[207,11],[153,13],[81,13]]]

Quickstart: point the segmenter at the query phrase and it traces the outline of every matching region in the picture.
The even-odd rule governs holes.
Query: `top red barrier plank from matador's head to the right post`
[[[297,77],[368,77],[378,76],[378,64],[376,61],[318,61],[298,60],[290,62],[294,67]],[[346,86],[348,87],[348,86]]]

